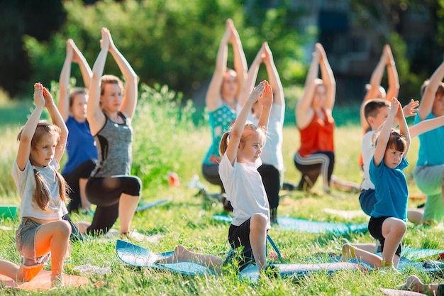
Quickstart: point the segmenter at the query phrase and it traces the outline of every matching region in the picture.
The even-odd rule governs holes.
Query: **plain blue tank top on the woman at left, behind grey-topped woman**
[[[97,148],[87,121],[76,121],[69,116],[66,121],[68,140],[66,151],[68,155],[62,175],[69,174],[78,165],[89,159],[97,159]]]

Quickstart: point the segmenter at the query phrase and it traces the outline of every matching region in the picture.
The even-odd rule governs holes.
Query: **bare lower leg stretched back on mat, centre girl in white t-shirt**
[[[187,250],[182,245],[174,248],[174,253],[167,258],[162,258],[156,261],[157,263],[177,263],[177,262],[193,262],[200,265],[207,266],[214,270],[216,273],[220,273],[222,270],[223,260],[217,256],[209,254],[194,253]]]

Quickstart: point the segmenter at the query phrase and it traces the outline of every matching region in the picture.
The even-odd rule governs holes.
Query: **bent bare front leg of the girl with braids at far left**
[[[68,221],[54,221],[40,226],[35,234],[35,255],[51,252],[52,275],[61,275],[70,243],[71,225]]]

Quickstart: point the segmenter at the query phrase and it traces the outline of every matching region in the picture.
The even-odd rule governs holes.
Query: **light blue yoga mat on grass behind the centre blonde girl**
[[[212,217],[218,221],[231,223],[232,217],[228,215],[215,215]],[[288,216],[278,216],[276,229],[296,230],[309,232],[311,234],[321,234],[323,232],[331,232],[334,234],[348,234],[350,232],[367,231],[368,223],[362,224],[346,224],[322,221],[311,221],[306,219],[292,218]]]

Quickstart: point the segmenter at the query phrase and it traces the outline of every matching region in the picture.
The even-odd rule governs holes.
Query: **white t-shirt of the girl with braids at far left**
[[[52,160],[50,165],[44,168],[34,167],[30,161],[26,163],[23,171],[18,168],[17,160],[14,161],[12,167],[12,177],[16,182],[18,195],[21,198],[20,216],[30,216],[37,219],[60,219],[63,215],[68,213],[67,207],[60,199],[59,183],[55,175],[55,170],[60,166],[55,160]],[[35,191],[35,177],[34,169],[38,170],[45,180],[45,188],[50,192],[51,200],[48,211],[43,212],[38,205],[33,202],[33,194]]]

